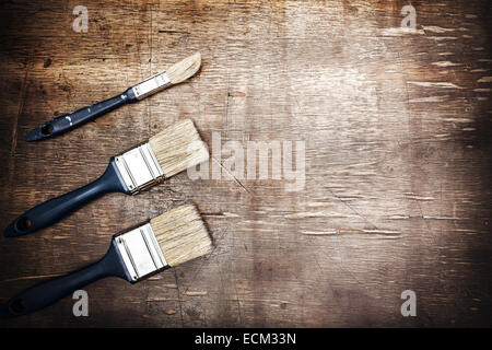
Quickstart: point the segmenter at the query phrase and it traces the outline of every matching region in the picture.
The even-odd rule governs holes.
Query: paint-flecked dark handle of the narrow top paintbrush
[[[70,131],[103,114],[108,113],[109,110],[127,104],[128,102],[136,101],[137,97],[134,96],[132,88],[130,88],[118,96],[96,103],[89,107],[80,108],[75,112],[62,115],[40,125],[31,130],[25,136],[25,140],[37,141]]]

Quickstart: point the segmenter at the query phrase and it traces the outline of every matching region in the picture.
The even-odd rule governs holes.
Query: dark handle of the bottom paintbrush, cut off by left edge
[[[79,271],[37,284],[12,298],[0,307],[0,316],[12,317],[35,312],[104,277],[127,279],[122,266],[113,241],[101,260]]]

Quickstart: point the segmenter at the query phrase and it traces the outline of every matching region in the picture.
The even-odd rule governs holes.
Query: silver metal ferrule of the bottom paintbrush
[[[115,237],[131,282],[167,266],[150,223]]]

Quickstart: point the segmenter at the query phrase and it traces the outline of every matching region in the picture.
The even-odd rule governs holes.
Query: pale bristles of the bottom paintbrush
[[[150,221],[164,258],[171,267],[206,255],[212,240],[192,205],[174,208]]]

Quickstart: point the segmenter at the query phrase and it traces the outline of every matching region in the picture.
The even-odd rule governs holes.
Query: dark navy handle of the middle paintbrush
[[[113,158],[106,172],[95,182],[26,211],[5,229],[3,235],[16,237],[44,229],[91,200],[112,191],[129,194]]]

